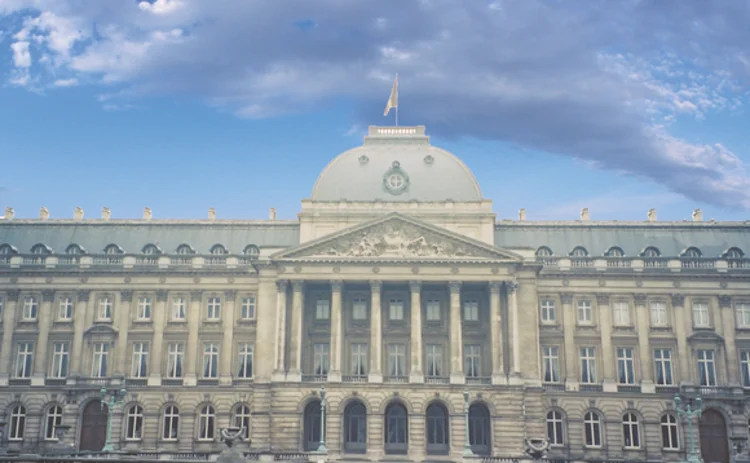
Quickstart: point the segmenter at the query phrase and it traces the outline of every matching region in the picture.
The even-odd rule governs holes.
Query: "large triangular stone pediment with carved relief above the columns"
[[[288,259],[521,261],[521,256],[398,213],[271,256]]]

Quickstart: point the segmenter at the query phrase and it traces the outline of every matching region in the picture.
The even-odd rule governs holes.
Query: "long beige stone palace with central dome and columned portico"
[[[645,215],[645,214],[644,214]],[[370,127],[298,220],[0,221],[10,449],[706,461],[746,444],[750,222],[497,220],[425,128]],[[102,406],[101,389],[124,389]],[[321,398],[325,407],[321,407]],[[73,436],[74,434],[74,436]],[[321,442],[322,441],[322,442]],[[286,455],[286,456],[285,456]],[[316,457],[317,458],[317,457]]]

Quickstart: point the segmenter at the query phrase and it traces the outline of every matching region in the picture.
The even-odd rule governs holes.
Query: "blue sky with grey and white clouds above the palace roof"
[[[314,4],[314,5],[313,5]],[[750,3],[0,0],[0,207],[294,218],[399,73],[498,218],[745,220]]]

